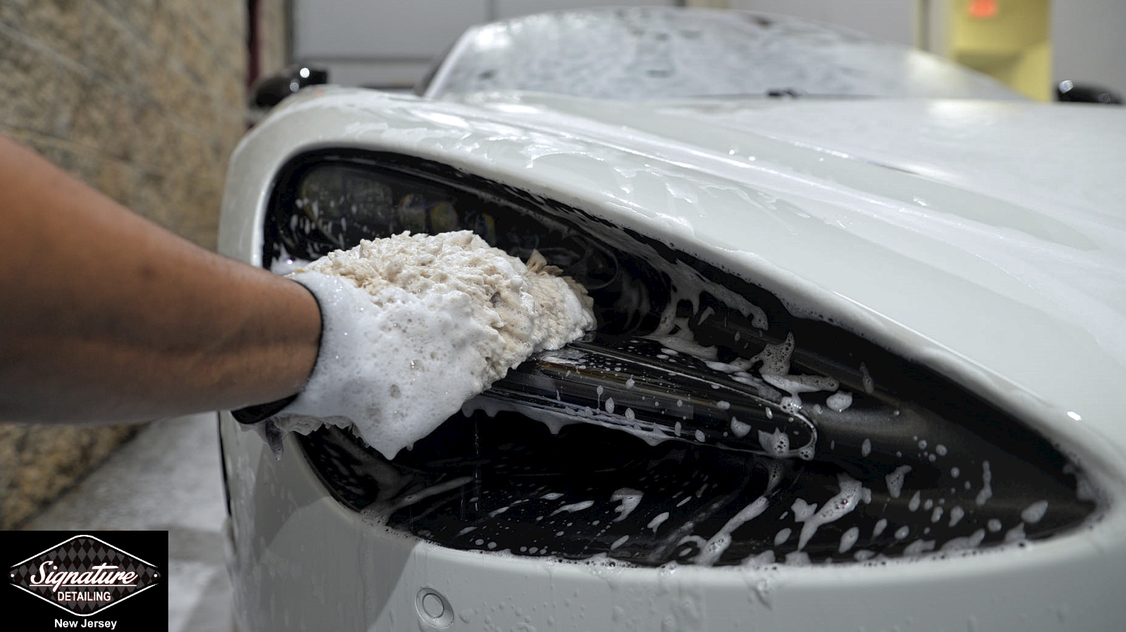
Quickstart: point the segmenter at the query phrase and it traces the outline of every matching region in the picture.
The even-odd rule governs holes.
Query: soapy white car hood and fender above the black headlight
[[[946,373],[1120,485],[1124,138],[1117,108],[1008,101],[315,89],[231,173],[268,181],[300,152],[368,147],[571,204]],[[267,195],[254,217],[224,214],[221,249],[260,252],[230,240],[253,238]]]

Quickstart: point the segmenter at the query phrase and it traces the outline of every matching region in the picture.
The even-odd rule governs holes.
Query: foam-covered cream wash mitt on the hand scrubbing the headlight
[[[531,353],[595,326],[586,291],[468,231],[363,241],[298,270],[321,303],[316,368],[280,430],[355,426],[387,458]]]

